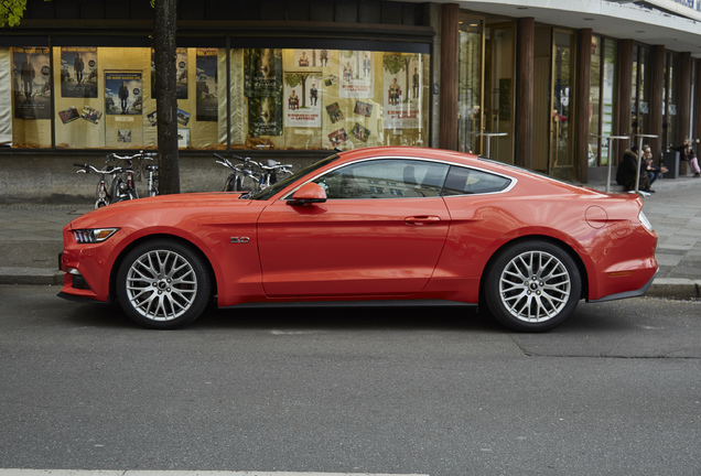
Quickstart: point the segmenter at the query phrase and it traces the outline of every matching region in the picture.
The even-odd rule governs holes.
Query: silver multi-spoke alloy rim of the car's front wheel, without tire
[[[136,312],[152,321],[183,315],[197,296],[197,275],[180,253],[155,249],[136,259],[126,278],[126,291]]]

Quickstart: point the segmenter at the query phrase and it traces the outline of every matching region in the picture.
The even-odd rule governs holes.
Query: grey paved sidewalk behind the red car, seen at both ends
[[[587,186],[604,191],[605,184]],[[701,298],[701,180],[661,178],[644,210],[659,235],[660,271],[647,295]],[[621,187],[612,185],[612,192]],[[62,228],[89,212],[85,204],[0,203],[0,284],[60,285]]]

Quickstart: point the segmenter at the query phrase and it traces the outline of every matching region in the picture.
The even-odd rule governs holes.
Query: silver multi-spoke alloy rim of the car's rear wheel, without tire
[[[541,323],[558,316],[571,292],[567,267],[546,251],[517,255],[499,278],[502,303],[514,317],[527,323]]]

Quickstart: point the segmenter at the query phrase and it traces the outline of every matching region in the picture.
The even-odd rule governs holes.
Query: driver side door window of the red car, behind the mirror
[[[438,197],[449,166],[408,159],[380,159],[342,166],[314,182],[328,199]]]

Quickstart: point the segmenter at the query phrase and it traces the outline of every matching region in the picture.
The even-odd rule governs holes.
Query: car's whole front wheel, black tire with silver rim
[[[172,329],[204,312],[212,293],[207,267],[191,247],[170,239],[129,251],[117,271],[117,298],[137,324]]]

